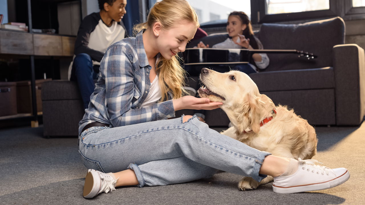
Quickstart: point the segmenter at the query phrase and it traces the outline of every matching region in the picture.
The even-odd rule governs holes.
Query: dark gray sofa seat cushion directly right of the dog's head
[[[332,67],[251,73],[260,92],[334,88]]]

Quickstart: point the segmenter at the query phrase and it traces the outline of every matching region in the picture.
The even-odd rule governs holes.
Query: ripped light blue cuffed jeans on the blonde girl
[[[217,170],[259,174],[268,152],[210,129],[193,116],[123,127],[92,127],[81,133],[80,156],[88,169],[105,173],[134,170],[138,186],[159,186],[209,178]]]

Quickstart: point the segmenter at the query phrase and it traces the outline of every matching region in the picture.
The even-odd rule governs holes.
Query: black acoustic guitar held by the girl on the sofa
[[[185,65],[249,63],[254,53],[293,53],[308,60],[317,58],[298,50],[188,48],[183,52],[183,59]]]

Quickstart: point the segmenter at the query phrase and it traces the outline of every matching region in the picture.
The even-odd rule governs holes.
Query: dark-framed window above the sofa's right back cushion
[[[335,16],[365,19],[365,0],[251,0],[253,24]]]

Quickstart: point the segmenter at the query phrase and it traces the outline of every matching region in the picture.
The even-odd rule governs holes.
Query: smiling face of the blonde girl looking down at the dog
[[[178,52],[184,52],[186,44],[194,37],[196,29],[195,23],[187,21],[172,28],[161,28],[157,33],[158,52],[167,60]]]

